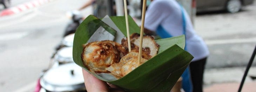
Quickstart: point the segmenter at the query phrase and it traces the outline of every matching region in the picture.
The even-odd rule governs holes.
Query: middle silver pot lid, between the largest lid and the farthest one
[[[73,47],[63,47],[55,55],[55,59],[60,62],[73,62]]]

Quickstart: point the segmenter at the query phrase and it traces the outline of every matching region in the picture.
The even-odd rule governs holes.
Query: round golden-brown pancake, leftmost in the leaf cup
[[[120,60],[119,51],[115,46],[104,41],[84,45],[81,57],[89,71],[95,73],[109,73],[106,68]]]

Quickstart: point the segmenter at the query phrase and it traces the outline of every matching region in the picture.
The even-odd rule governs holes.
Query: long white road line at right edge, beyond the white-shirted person
[[[245,39],[205,40],[207,45],[230,44],[230,43],[256,43],[256,37]]]

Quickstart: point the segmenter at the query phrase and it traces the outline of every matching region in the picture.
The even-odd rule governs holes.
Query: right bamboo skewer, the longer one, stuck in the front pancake
[[[141,63],[143,31],[144,31],[144,21],[145,21],[145,13],[146,13],[146,3],[147,3],[147,0],[143,0],[142,17],[141,17],[140,47],[139,47],[138,65],[140,65],[140,63]]]

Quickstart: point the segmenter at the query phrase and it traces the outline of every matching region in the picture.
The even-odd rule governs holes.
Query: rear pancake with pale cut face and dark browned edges
[[[132,35],[130,35],[130,41],[131,41],[131,49],[139,50],[140,34],[133,33]],[[128,50],[127,38],[122,39],[122,45],[126,50]],[[159,47],[160,45],[158,45],[155,42],[153,36],[148,36],[148,35],[143,36],[142,50],[145,51],[148,55],[150,55],[151,57],[156,56]]]

